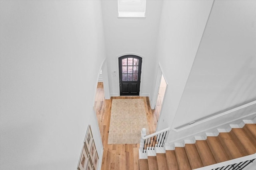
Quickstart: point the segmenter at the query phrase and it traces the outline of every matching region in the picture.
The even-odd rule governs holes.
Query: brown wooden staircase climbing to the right
[[[256,124],[244,122],[242,128],[230,125],[229,132],[218,129],[217,135],[208,134],[206,140],[197,138],[195,143],[186,142],[184,147],[175,145],[174,150],[165,153],[156,151],[156,156],[139,160],[140,170],[193,170],[255,154]]]

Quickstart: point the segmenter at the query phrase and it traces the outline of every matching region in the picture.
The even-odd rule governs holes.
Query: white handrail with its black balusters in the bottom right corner
[[[194,170],[242,170],[256,159],[256,154],[220,162]],[[244,169],[245,170],[245,169]]]

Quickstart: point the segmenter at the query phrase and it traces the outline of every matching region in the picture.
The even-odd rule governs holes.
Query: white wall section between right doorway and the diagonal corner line
[[[157,63],[168,82],[158,130],[172,127],[213,1],[163,1]]]

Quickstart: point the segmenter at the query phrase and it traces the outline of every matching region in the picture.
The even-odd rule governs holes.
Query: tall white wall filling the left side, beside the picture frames
[[[76,169],[88,124],[100,156],[100,2],[1,0],[0,11],[1,169]]]

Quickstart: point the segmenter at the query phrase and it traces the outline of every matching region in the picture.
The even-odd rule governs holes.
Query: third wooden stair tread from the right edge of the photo
[[[231,156],[233,159],[243,156],[230,133],[219,133],[218,137],[229,156]]]

